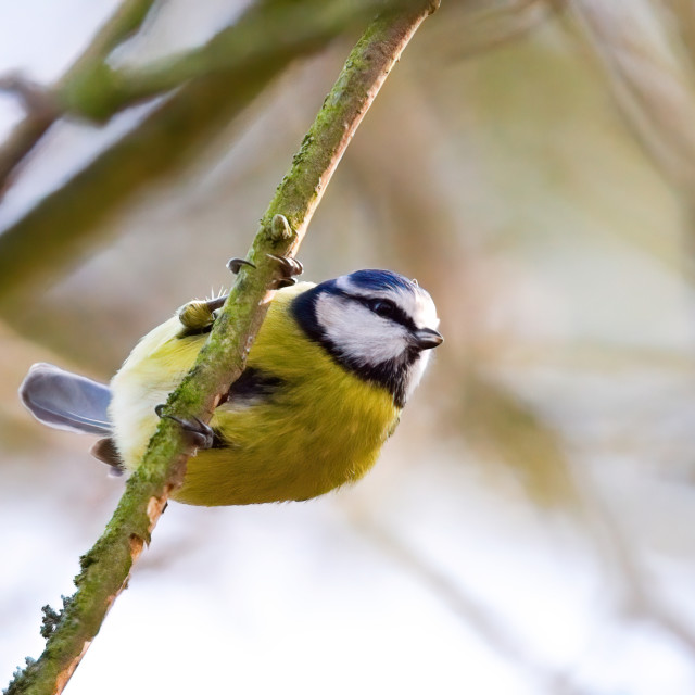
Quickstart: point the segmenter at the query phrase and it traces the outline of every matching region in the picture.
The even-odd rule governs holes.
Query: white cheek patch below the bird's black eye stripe
[[[319,295],[316,318],[337,350],[365,365],[393,359],[407,349],[405,327],[377,316],[358,302]]]

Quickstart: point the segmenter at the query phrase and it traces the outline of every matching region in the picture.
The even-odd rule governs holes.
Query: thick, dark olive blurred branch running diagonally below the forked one
[[[5,320],[16,319],[21,329],[20,298],[40,292],[47,282],[78,263],[99,243],[94,230],[100,222],[136,192],[142,194],[146,184],[154,185],[194,157],[203,142],[228,127],[292,59],[316,51],[350,30],[374,8],[374,2],[355,7],[344,0],[333,0],[332,4],[268,0],[252,5],[232,27],[217,35],[201,49],[192,72],[185,71],[186,78],[198,74],[197,79],[156,106],[126,136],[0,235],[0,312]],[[288,33],[287,27],[293,25],[302,30]],[[228,48],[220,51],[220,47]],[[206,62],[211,55],[218,61],[214,65]],[[185,79],[179,68],[189,60],[185,56],[176,67],[167,66],[157,73],[168,75],[173,70],[175,79],[167,83],[166,89]],[[68,83],[85,83],[86,72],[80,68]],[[101,71],[94,68],[89,75],[101,90]],[[134,79],[124,83],[137,85]],[[159,89],[148,88],[148,96]],[[118,99],[111,102],[109,83],[103,92],[105,101],[89,88],[81,87],[79,92],[80,101],[92,110],[100,109],[101,103],[111,114],[122,105]],[[129,98],[126,102],[130,102]],[[90,204],[81,204],[85,200]],[[33,253],[36,249],[41,253]]]

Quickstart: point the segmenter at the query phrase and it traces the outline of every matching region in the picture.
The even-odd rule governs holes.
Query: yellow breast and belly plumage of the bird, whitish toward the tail
[[[307,286],[276,293],[248,367],[282,386],[269,399],[215,412],[211,426],[228,446],[188,462],[175,500],[198,505],[307,500],[361,478],[376,462],[399,417],[384,389],[345,371],[308,340],[288,311]],[[136,346],[112,381],[111,417],[127,468],[135,468],[166,401],[205,337],[179,339],[176,318]],[[243,402],[242,402],[243,403]]]

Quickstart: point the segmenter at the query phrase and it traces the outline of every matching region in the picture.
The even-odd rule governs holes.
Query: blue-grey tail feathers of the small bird
[[[20,399],[34,417],[61,430],[111,434],[111,390],[53,365],[34,365],[20,387]]]

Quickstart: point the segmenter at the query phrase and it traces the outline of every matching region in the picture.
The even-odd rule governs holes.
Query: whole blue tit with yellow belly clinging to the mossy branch
[[[34,365],[20,395],[52,427],[101,434],[92,453],[132,470],[164,403],[190,369],[222,300],[192,302],[135,346],[111,384]],[[357,270],[275,293],[210,421],[210,447],[172,496],[195,505],[308,500],[358,480],[376,462],[442,342],[415,280]]]

